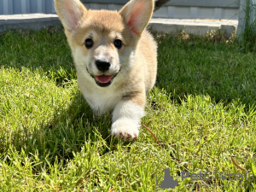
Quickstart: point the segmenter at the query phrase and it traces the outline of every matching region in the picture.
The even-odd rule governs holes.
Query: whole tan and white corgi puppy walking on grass
[[[157,44],[145,29],[154,0],[131,0],[119,12],[55,0],[55,9],[85,100],[98,115],[112,112],[113,137],[136,139],[146,94],[156,79]]]

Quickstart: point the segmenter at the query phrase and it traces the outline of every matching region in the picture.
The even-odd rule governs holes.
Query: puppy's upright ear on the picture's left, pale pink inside
[[[55,0],[55,9],[67,32],[79,26],[79,20],[87,11],[79,0]]]

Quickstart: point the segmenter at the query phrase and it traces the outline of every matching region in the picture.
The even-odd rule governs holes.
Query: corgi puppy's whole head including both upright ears
[[[112,84],[132,66],[137,43],[154,9],[154,0],[131,0],[119,12],[87,10],[79,0],[55,0],[78,73],[96,84]]]

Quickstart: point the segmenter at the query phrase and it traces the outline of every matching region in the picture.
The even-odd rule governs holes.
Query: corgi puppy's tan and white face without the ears
[[[106,87],[129,68],[137,38],[118,12],[89,10],[84,16],[68,42],[78,73],[88,73],[98,86]]]

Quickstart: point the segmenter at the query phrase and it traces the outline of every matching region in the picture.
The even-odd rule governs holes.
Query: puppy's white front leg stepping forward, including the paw
[[[145,96],[123,100],[113,109],[111,133],[125,140],[137,139],[141,118],[144,116]]]

